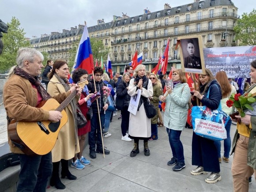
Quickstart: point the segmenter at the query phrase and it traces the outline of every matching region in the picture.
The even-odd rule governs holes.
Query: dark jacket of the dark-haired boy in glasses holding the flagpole
[[[96,85],[96,89],[94,87],[94,80],[91,79],[90,82],[88,83],[87,87],[88,90],[90,91],[90,93],[94,93],[95,91],[99,91],[101,96],[100,98],[98,98],[98,104],[99,104],[99,109],[100,109],[100,113],[104,113],[103,107],[104,107],[104,103],[103,103],[103,86],[107,86],[105,83],[101,81],[95,81],[95,85]],[[107,103],[109,103],[109,101],[107,101]],[[93,109],[93,113],[98,113],[98,107],[97,107],[97,101],[94,101],[91,103],[91,107]]]

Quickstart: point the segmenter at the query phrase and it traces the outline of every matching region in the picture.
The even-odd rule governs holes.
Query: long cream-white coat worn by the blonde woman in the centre
[[[134,79],[131,79],[128,94],[130,96],[134,96],[137,94],[137,92],[138,90],[136,90]],[[148,80],[147,89],[142,88],[141,95],[146,98],[152,97],[153,87],[150,79]],[[130,113],[129,135],[133,137],[151,137],[151,119],[147,118],[143,103],[136,115]]]

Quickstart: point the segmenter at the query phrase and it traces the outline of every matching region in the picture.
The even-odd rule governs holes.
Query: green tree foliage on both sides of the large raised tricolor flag
[[[72,67],[75,62],[75,55],[77,52],[77,48],[80,42],[82,36],[80,36],[77,41],[75,41],[72,45],[72,49],[70,49],[68,52],[70,53],[70,57],[68,59],[68,67],[70,70],[72,70]],[[109,54],[109,47],[105,47],[103,44],[102,40],[98,40],[96,38],[90,38],[90,45],[91,45],[91,50],[93,53],[93,60],[94,60],[94,65],[96,63],[96,59],[98,59],[98,64],[101,62],[101,57],[104,60],[104,62],[108,59],[108,54]]]

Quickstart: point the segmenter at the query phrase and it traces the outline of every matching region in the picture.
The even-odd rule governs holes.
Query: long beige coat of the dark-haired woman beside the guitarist
[[[58,79],[53,76],[51,79],[53,82],[59,82]],[[56,94],[65,93],[65,89],[62,84],[49,82],[48,93],[51,96]],[[79,97],[75,96],[76,102],[79,101]],[[69,160],[74,157],[76,153],[79,153],[79,143],[75,145],[75,122],[73,119],[71,105],[65,107],[65,112],[68,114],[68,122],[60,129],[58,139],[52,150],[53,162],[59,162],[60,159]]]

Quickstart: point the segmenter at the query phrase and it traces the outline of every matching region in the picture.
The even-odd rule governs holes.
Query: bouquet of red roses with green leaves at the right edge
[[[228,107],[232,107],[233,105],[236,107],[237,111],[240,113],[241,117],[245,117],[245,109],[253,110],[251,104],[256,102],[256,99],[253,97],[251,93],[245,94],[244,96],[240,93],[232,94],[230,99],[227,100],[226,104]]]

